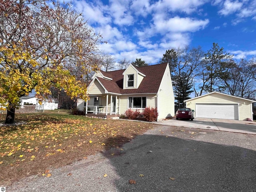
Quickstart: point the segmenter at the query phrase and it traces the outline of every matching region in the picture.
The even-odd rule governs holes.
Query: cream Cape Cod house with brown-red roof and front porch
[[[131,108],[157,107],[158,120],[174,116],[174,93],[168,63],[126,70],[98,71],[88,86],[89,100],[78,100],[79,110],[94,116],[119,116]],[[90,114],[91,113],[91,114]]]

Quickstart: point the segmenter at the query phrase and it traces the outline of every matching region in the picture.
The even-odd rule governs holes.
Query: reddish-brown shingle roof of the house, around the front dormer
[[[124,82],[124,69],[104,72],[104,76],[112,77],[113,80],[109,81],[97,77],[97,80],[104,86],[108,92],[118,94],[140,94],[140,93],[157,93],[161,84],[166,66],[168,63],[156,64],[136,68],[138,71],[145,75],[140,86],[137,89],[123,89]]]

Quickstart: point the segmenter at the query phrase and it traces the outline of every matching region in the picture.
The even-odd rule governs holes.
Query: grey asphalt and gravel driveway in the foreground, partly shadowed
[[[253,134],[159,124],[122,148],[49,168],[51,177],[31,176],[7,191],[253,192],[255,140]]]

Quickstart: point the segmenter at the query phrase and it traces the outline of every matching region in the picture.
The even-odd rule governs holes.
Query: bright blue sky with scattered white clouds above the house
[[[255,0],[72,0],[116,61],[156,64],[171,48],[218,43],[234,58],[256,55]]]

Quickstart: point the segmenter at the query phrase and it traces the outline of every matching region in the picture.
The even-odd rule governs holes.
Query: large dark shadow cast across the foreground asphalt
[[[114,183],[120,192],[256,189],[254,150],[160,135],[138,136],[122,149],[114,156],[104,154],[120,176]]]

